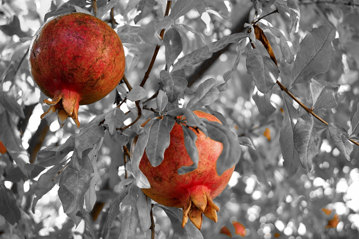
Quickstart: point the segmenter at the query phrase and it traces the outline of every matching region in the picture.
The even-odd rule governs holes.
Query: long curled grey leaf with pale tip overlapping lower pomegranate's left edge
[[[146,125],[144,126],[143,133],[138,136],[137,140],[135,138],[134,141],[132,142],[133,150],[131,149],[131,151],[132,151],[131,165],[132,165],[132,169],[134,170],[134,174],[135,174],[134,177],[136,179],[137,187],[139,187],[139,188],[150,188],[151,187],[150,182],[148,181],[146,176],[141,172],[139,166],[140,166],[140,160],[142,158],[142,155],[145,151],[145,147],[148,142],[152,123],[156,118],[157,117],[154,117],[149,122],[147,122]]]

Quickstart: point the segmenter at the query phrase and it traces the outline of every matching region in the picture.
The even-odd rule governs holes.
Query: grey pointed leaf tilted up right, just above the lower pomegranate
[[[188,109],[195,111],[203,106],[208,106],[218,98],[219,90],[216,87],[216,80],[213,78],[205,80],[198,86],[195,96],[187,104]]]

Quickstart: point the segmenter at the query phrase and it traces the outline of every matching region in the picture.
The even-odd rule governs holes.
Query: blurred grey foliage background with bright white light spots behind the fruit
[[[62,145],[70,135],[78,133],[95,116],[108,112],[116,102],[117,92],[114,90],[94,104],[80,106],[81,127],[79,129],[71,121],[60,129],[55,116],[40,120],[39,116],[47,110],[47,106],[39,102],[46,97],[34,85],[29,73],[27,51],[30,42],[21,42],[20,38],[25,40],[26,37],[33,36],[44,23],[46,13],[55,11],[62,4],[67,4],[65,2],[67,1],[2,0],[0,5],[1,87],[12,95],[24,110],[25,117],[21,118],[15,112],[9,116],[9,121],[19,129],[16,133],[21,135],[22,146],[28,150],[31,159],[39,150],[36,150],[38,144],[42,145],[41,149]],[[76,5],[81,1],[73,2]],[[101,7],[106,2],[98,0],[97,6]],[[146,28],[154,24],[154,21],[163,18],[166,1],[151,2],[153,2],[152,9],[146,12],[146,16],[143,14],[142,19],[139,19],[136,18],[139,14],[136,10],[139,0],[118,1],[113,9],[116,27],[124,24],[135,25],[135,20],[136,25]],[[256,13],[253,3],[258,10],[263,9],[262,6],[268,2],[265,0],[208,0],[180,17],[176,23],[203,33],[208,43],[214,42],[228,36],[234,29],[241,28],[243,24],[240,26],[238,24],[241,24],[242,19],[245,19],[248,14],[249,22],[256,14],[260,14]],[[338,123],[348,130],[359,102],[359,12],[357,7],[359,2],[357,0],[333,2],[297,0],[296,3],[299,5],[301,14],[297,32],[290,31],[290,19],[288,20],[288,16],[282,11],[269,15],[263,23],[280,29],[297,48],[299,42],[313,28],[325,22],[336,28],[336,37],[332,42],[335,53],[331,58],[329,70],[314,78],[341,85],[335,95],[338,106],[334,109],[322,110],[317,114],[327,122]],[[87,1],[86,4],[83,7],[89,9],[90,2]],[[71,10],[74,11],[74,9]],[[275,10],[275,5],[271,6],[272,10]],[[209,20],[206,18],[207,15]],[[102,19],[111,24],[110,12],[106,13]],[[204,46],[199,34],[194,34],[187,29],[181,29],[179,33],[183,44],[179,58]],[[289,85],[291,67],[282,56],[279,39],[269,34],[267,30],[265,34],[278,61],[280,81],[284,85]],[[264,47],[258,43],[256,46],[263,55],[266,54]],[[129,43],[125,43],[124,47],[126,77],[132,85],[139,85],[153,55],[154,47]],[[230,45],[208,70],[202,72],[200,78],[191,85],[191,89],[195,90],[200,83],[209,78],[216,79],[217,85],[224,83],[223,73],[232,68],[237,56],[236,48],[235,44]],[[340,154],[326,131],[320,153],[313,159],[312,171],[308,173],[300,167],[292,178],[286,178],[287,173],[283,168],[283,157],[279,146],[279,131],[283,121],[281,111],[283,99],[280,97],[280,89],[274,88],[270,101],[275,107],[275,112],[269,117],[259,113],[252,99],[255,84],[246,69],[246,54],[250,48],[251,44],[247,44],[242,49],[238,69],[228,81],[227,90],[220,93],[211,108],[225,116],[228,127],[238,136],[250,138],[256,150],[241,146],[242,158],[236,166],[229,185],[214,199],[220,208],[218,222],[214,223],[204,218],[201,233],[204,238],[228,238],[228,235],[220,234],[221,228],[225,226],[231,232],[232,238],[241,238],[236,235],[233,224],[233,221],[237,221],[246,227],[246,238],[269,239],[279,234],[278,238],[290,239],[358,238],[359,148],[354,145],[350,160],[347,160],[344,155]],[[144,86],[148,97],[157,91],[160,83],[159,72],[165,68],[165,65],[165,50],[162,46],[149,80]],[[186,76],[194,74],[198,65],[186,67]],[[308,82],[296,84],[293,89],[305,94],[308,101],[302,100],[302,102],[308,107],[311,106]],[[185,102],[188,102],[188,99],[185,95]],[[299,116],[306,113],[297,103],[293,102],[293,105],[298,109]],[[156,108],[155,102],[149,101],[146,107]],[[0,113],[4,113],[4,108],[5,106],[0,105]],[[121,109],[124,112],[128,110],[126,104],[123,104]],[[144,113],[144,119],[136,125],[141,125],[148,118],[150,112],[144,111]],[[127,124],[136,118],[132,113],[129,115]],[[44,132],[46,136],[43,142],[39,143],[38,139],[41,133],[44,135]],[[270,137],[268,132],[270,132]],[[1,140],[5,142],[6,139]],[[97,219],[87,220],[84,216],[79,226],[75,228],[74,222],[64,214],[57,196],[58,186],[39,200],[35,214],[31,212],[31,203],[41,169],[32,175],[25,175],[19,168],[13,166],[15,162],[12,156],[8,153],[2,154],[3,152],[1,151],[0,154],[0,182],[14,193],[22,215],[22,219],[15,226],[5,221],[0,215],[0,238],[3,239],[23,238],[23,236],[26,238],[91,238],[89,228],[97,231],[101,229],[102,218],[106,217],[106,210],[120,192],[123,186],[121,182],[125,178],[122,148],[112,141],[107,132],[97,160],[101,176],[96,185],[97,203],[91,213],[84,211],[84,214],[96,215],[94,218]],[[327,215],[322,208],[333,211]],[[167,238],[177,238],[169,218],[162,209],[154,207],[153,215],[156,233],[162,229]],[[340,221],[337,225],[335,221],[331,222],[335,217],[338,217]],[[107,238],[115,238],[120,234],[122,220],[125,219],[119,215],[113,222]],[[331,228],[330,225],[334,226]],[[137,233],[143,234],[140,226],[137,228]]]

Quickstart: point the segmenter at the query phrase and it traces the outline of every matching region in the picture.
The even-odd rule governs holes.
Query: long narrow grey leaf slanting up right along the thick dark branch
[[[211,58],[213,52],[221,50],[229,43],[237,43],[246,37],[249,37],[249,33],[235,33],[227,37],[223,37],[216,42],[211,42],[208,44],[209,47],[203,46],[179,59],[177,63],[173,65],[172,71],[177,71],[185,66],[192,66],[203,60]]]

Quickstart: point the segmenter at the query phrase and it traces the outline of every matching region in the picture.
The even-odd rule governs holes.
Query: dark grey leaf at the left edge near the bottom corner
[[[16,196],[4,185],[0,185],[0,208],[0,214],[5,217],[6,221],[12,225],[15,225],[16,222],[19,223],[21,212],[17,205]]]

